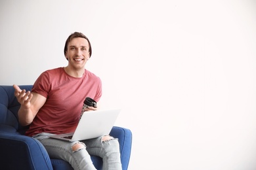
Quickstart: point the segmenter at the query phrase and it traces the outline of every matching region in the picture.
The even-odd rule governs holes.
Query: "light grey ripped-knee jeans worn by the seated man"
[[[74,169],[95,169],[90,155],[100,156],[103,160],[102,169],[121,169],[119,143],[117,139],[102,141],[102,137],[84,141],[68,142],[49,138],[51,133],[39,133],[33,138],[39,140],[47,150],[50,158],[68,161]],[[74,150],[74,144],[83,144],[82,148]]]

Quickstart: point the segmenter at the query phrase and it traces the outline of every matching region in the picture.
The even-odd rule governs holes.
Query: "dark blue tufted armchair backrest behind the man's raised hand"
[[[20,89],[28,91],[32,89],[32,85],[20,86]],[[14,88],[12,86],[0,86],[1,128],[8,128],[9,132],[24,134],[28,126],[23,127],[18,123],[18,109],[20,109],[20,103],[14,96]]]

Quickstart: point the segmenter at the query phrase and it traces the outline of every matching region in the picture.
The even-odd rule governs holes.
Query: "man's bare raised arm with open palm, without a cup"
[[[39,95],[38,93],[20,90],[15,84],[13,85],[13,88],[15,89],[14,95],[16,96],[18,103],[20,103],[18,121],[22,126],[27,126],[32,123],[38,110],[45,104],[46,97],[43,97],[43,95]]]

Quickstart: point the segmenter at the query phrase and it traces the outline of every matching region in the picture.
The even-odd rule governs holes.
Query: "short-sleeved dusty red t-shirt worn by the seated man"
[[[63,67],[42,73],[32,92],[47,98],[35,116],[26,135],[37,133],[70,133],[79,122],[85,97],[99,101],[102,95],[102,83],[98,76],[85,69],[81,78],[68,75]]]

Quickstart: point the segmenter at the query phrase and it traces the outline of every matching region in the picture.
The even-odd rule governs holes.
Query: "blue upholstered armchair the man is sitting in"
[[[31,90],[32,85],[20,86]],[[0,160],[1,169],[73,169],[64,160],[49,158],[44,146],[24,135],[28,126],[18,124],[20,104],[14,96],[12,86],[0,86]],[[118,138],[121,152],[122,168],[127,169],[131,155],[132,133],[123,127],[112,128],[110,135]],[[102,169],[102,159],[91,156],[96,169]]]

